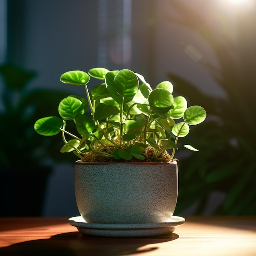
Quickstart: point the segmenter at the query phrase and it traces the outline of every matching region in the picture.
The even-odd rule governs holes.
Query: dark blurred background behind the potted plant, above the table
[[[179,148],[176,155],[175,215],[255,214],[255,11],[253,0],[0,0],[0,187],[11,202],[11,213],[2,208],[1,215],[19,214],[11,208],[17,199],[7,199],[18,186],[27,188],[25,208],[34,207],[35,188],[13,185],[22,173],[34,186],[33,175],[47,177],[40,215],[79,214],[76,157],[58,153],[58,138],[45,141],[33,125],[57,115],[58,97],[84,94],[63,85],[61,74],[98,66],[131,69],[152,87],[169,80],[189,105],[207,111],[183,139],[200,151]],[[41,171],[45,166],[51,171]],[[7,173],[14,173],[10,184]]]

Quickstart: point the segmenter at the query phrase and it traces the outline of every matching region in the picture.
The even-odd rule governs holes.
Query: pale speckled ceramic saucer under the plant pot
[[[132,237],[157,236],[172,233],[175,227],[184,224],[185,219],[172,216],[169,222],[139,224],[87,223],[81,216],[68,219],[68,223],[83,234],[90,236]]]

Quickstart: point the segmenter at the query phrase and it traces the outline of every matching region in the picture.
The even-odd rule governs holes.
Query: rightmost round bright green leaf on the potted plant
[[[183,118],[187,124],[200,124],[206,118],[206,112],[200,106],[191,106],[185,110]]]

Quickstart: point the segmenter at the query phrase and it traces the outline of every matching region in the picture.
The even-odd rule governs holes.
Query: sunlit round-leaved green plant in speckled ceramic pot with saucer
[[[91,92],[90,77],[100,81]],[[130,236],[138,235],[140,228],[142,235],[145,230],[162,234],[183,223],[183,218],[171,219],[177,201],[174,155],[178,138],[189,133],[189,125],[204,121],[205,110],[187,108],[182,96],[174,98],[169,81],[152,89],[143,76],[127,69],[69,71],[61,81],[84,85],[87,100],[66,97],[58,105],[60,117],[43,117],[34,129],[45,136],[61,132],[61,152],[80,158],[75,163],[75,193],[81,217],[70,224],[86,234]],[[70,123],[76,134],[67,129]],[[130,225],[135,225],[133,233],[127,230]]]

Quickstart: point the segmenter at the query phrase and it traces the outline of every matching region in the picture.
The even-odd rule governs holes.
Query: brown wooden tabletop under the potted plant
[[[187,217],[173,234],[85,236],[67,218],[0,218],[0,256],[256,256],[256,217]]]

